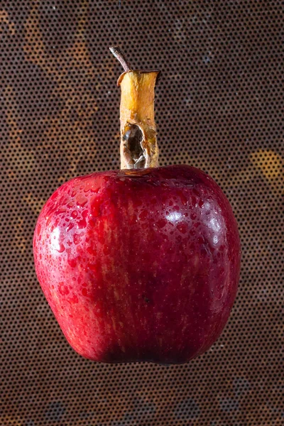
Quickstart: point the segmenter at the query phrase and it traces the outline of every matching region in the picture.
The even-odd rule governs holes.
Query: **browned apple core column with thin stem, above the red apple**
[[[121,87],[121,169],[158,167],[154,120],[155,81],[158,70],[131,70],[118,46],[110,48],[125,72]]]

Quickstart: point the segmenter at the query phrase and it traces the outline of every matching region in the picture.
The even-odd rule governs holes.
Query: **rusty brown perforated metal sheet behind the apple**
[[[283,1],[2,1],[1,426],[284,425],[283,18]],[[111,43],[162,70],[161,165],[206,170],[239,222],[229,324],[182,366],[82,359],[35,278],[43,202],[119,168]]]

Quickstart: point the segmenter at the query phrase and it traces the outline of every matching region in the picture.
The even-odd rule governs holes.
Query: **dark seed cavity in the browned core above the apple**
[[[137,124],[128,124],[127,130],[124,133],[124,143],[127,151],[129,151],[134,168],[143,168],[145,165],[145,156],[141,142],[143,133]]]

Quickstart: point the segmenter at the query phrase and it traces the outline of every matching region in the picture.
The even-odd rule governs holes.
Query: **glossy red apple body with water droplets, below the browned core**
[[[43,207],[33,247],[62,332],[94,361],[189,361],[219,337],[236,297],[234,214],[188,165],[66,182]]]

